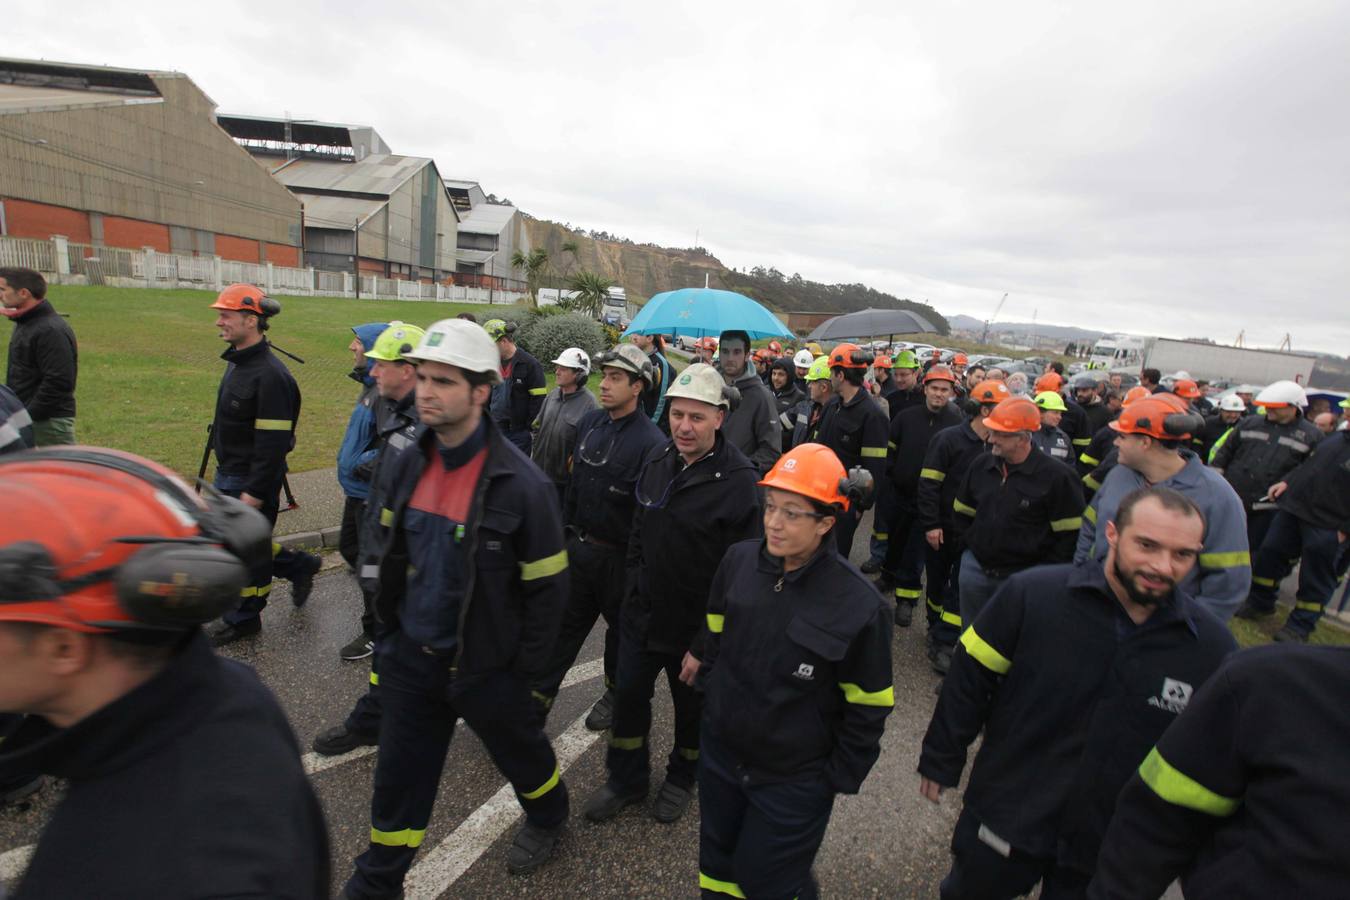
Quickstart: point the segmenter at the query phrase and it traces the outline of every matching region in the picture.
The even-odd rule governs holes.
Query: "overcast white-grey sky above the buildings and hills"
[[[5,55],[370,124],[540,217],[949,314],[1007,291],[1004,321],[1350,354],[1339,0],[11,5]]]

